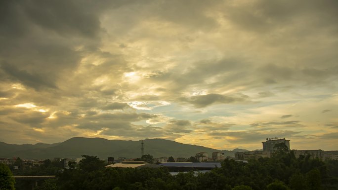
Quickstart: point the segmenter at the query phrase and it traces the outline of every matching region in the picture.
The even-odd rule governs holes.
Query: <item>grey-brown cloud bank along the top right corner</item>
[[[293,25],[296,21],[300,24],[306,22],[312,27],[327,28],[333,27],[330,23],[338,22],[338,3],[335,0],[253,0],[230,7],[224,13],[226,18],[244,30],[259,33]],[[311,19],[305,20],[304,17]]]

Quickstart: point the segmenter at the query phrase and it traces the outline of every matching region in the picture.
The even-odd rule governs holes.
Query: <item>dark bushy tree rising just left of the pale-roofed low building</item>
[[[79,162],[80,169],[91,172],[104,168],[104,161],[97,156],[82,155],[82,160]]]

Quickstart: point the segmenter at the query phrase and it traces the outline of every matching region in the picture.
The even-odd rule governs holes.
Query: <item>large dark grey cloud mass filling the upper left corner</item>
[[[0,61],[6,79],[40,90],[55,88],[70,75],[82,56],[75,47],[92,48],[94,38],[99,41],[98,14],[87,4],[1,1]]]

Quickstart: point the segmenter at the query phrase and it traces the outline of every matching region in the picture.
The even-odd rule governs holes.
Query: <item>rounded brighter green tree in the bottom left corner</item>
[[[15,190],[15,180],[7,165],[0,163],[0,190]]]

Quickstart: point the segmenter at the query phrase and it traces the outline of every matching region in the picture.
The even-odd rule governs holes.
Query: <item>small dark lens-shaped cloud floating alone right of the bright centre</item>
[[[248,96],[243,94],[233,97],[222,94],[207,94],[191,96],[189,98],[182,97],[179,100],[182,102],[188,102],[194,105],[196,108],[204,108],[213,103],[230,104],[236,102],[245,102],[247,99]]]

